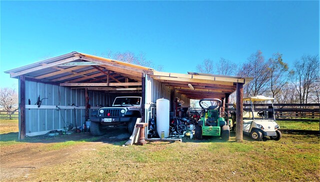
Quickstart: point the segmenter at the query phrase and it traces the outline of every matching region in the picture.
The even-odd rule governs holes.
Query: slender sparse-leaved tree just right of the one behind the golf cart
[[[282,54],[275,53],[269,59],[270,69],[270,88],[272,97],[275,97],[286,84],[288,77],[288,64],[282,60]]]

